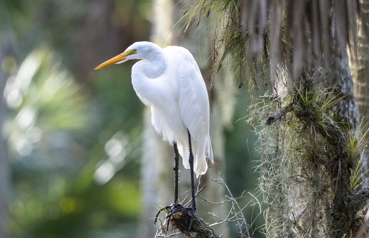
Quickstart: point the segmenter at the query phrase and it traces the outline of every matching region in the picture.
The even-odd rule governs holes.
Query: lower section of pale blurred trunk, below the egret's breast
[[[143,134],[141,187],[144,206],[139,237],[153,237],[159,226],[152,218],[159,209],[174,201],[174,151],[156,133],[149,108],[144,111]],[[159,217],[164,215],[159,214]]]

